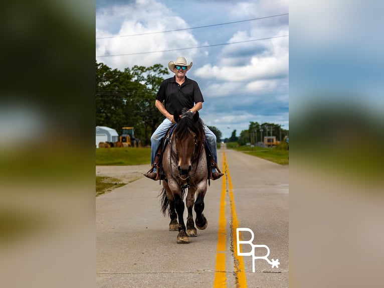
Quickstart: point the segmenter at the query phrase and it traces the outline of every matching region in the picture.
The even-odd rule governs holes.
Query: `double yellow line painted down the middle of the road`
[[[231,174],[229,172],[227,157],[223,151],[223,172],[226,177],[223,177],[221,200],[220,200],[220,215],[219,215],[219,230],[218,230],[218,245],[216,250],[216,272],[214,287],[215,288],[226,288],[227,287],[227,270],[226,270],[226,255],[233,258],[234,268],[236,273],[236,286],[239,288],[247,287],[247,278],[245,274],[243,257],[237,255],[237,239],[236,239],[236,228],[239,227],[239,221],[237,219],[235,200],[233,196],[233,186],[231,180]],[[228,189],[227,189],[228,183]],[[227,220],[226,220],[226,198],[230,201],[231,209],[231,222],[232,231],[230,235],[232,237],[232,251],[227,251]],[[232,255],[233,253],[233,255]]]

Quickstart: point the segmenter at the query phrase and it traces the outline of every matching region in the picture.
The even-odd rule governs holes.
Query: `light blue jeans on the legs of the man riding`
[[[153,132],[151,136],[151,164],[155,161],[157,148],[161,145],[161,140],[164,138],[166,131],[169,127],[172,126],[172,122],[167,118],[161,122],[157,129]],[[204,125],[204,132],[206,133],[207,141],[209,148],[211,149],[212,156],[216,163],[218,163],[218,152],[216,148],[216,135],[208,128],[207,125]]]

